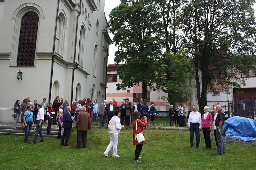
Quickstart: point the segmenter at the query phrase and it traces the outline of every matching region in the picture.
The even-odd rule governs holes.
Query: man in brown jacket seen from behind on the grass
[[[87,131],[91,130],[91,119],[90,114],[85,112],[86,108],[83,106],[82,111],[77,114],[76,117],[76,130],[77,130],[77,145],[76,148],[81,148],[81,139],[83,148],[87,144]]]

